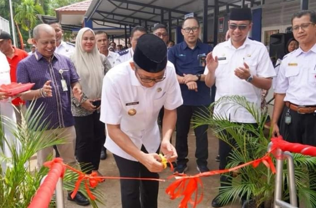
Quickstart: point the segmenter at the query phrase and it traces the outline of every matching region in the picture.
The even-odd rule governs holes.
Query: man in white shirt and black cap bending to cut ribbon
[[[117,65],[103,81],[101,118],[106,148],[114,155],[120,177],[158,178],[163,170],[158,153],[177,157],[170,137],[182,97],[167,46],[157,36],[142,35],[133,60]],[[164,106],[162,140],[157,124]],[[160,142],[161,141],[161,142]],[[120,180],[122,208],[157,208],[158,181]]]

